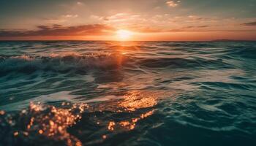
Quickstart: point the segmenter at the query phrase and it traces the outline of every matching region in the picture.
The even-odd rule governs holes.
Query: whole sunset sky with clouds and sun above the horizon
[[[0,40],[256,40],[256,0],[1,0]]]

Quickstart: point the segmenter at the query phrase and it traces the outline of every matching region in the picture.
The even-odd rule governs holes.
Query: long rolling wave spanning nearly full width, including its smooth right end
[[[147,68],[208,68],[232,69],[231,64],[227,64],[222,59],[206,58],[148,58],[151,54],[143,57],[135,57],[131,54],[122,53],[94,53],[82,55],[79,53],[60,53],[50,54],[48,56],[0,56],[0,74],[4,75],[10,72],[21,72],[30,74],[32,72],[75,72],[84,74],[94,69],[110,70],[119,69],[121,66],[127,67],[147,67]]]

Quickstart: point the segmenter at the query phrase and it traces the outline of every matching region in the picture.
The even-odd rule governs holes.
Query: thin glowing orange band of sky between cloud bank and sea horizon
[[[114,40],[114,41],[211,41],[216,39],[256,40],[255,32],[173,32],[134,34],[129,39],[113,36],[11,37],[11,40]],[[9,37],[1,40],[10,40]]]

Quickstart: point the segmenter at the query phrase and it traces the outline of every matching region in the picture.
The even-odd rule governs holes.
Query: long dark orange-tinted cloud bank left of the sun
[[[0,37],[42,37],[42,36],[97,36],[107,35],[115,31],[114,28],[102,24],[81,26],[37,26],[33,31],[0,30]]]

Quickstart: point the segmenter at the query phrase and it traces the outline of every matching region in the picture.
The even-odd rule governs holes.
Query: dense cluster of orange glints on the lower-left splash
[[[65,103],[62,105],[69,106]],[[81,113],[86,108],[88,108],[87,104],[72,104],[66,109],[31,103],[28,111],[21,112],[24,117],[31,115],[23,134],[29,136],[30,133],[34,134],[36,131],[38,134],[51,139],[65,140],[67,145],[82,145],[79,139],[67,132],[67,128],[75,125],[81,119]],[[15,131],[13,135],[18,136],[18,131]]]

